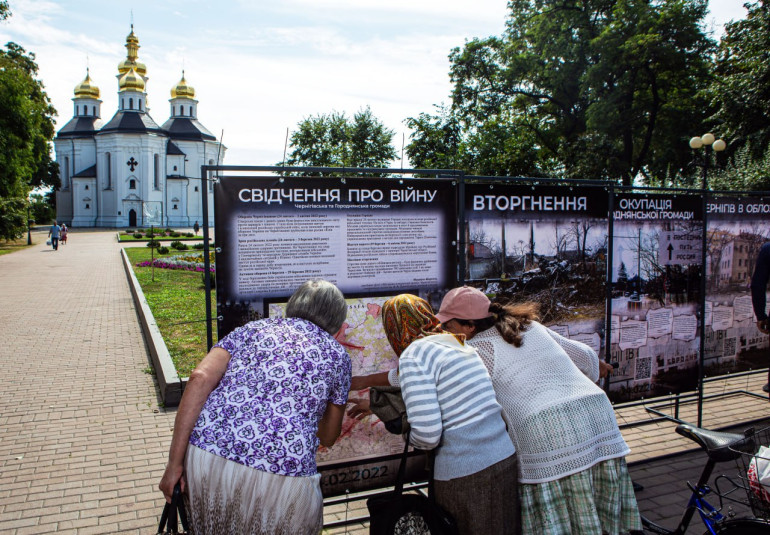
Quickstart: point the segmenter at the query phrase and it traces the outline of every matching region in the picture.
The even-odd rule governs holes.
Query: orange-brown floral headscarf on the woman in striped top
[[[451,334],[441,329],[441,322],[433,315],[427,301],[416,295],[401,294],[382,305],[382,325],[393,351],[399,357],[417,340],[433,334]],[[465,337],[456,338],[463,343]]]

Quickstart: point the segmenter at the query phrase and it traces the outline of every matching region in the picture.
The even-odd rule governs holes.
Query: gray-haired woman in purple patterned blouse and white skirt
[[[350,357],[333,335],[342,292],[308,281],[286,318],[254,321],[219,341],[190,375],[179,404],[167,501],[177,481],[192,533],[319,533],[315,455],[340,434]]]

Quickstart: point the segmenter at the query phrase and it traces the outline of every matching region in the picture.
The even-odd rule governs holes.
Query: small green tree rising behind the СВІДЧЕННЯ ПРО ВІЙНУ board
[[[368,107],[358,111],[352,120],[336,111],[307,117],[291,134],[291,152],[286,163],[309,167],[389,167],[396,158],[396,149],[391,144],[393,134]]]

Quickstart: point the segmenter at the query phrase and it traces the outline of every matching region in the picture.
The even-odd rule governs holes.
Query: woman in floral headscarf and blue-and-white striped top
[[[385,302],[382,321],[399,357],[410,441],[435,449],[436,502],[461,534],[518,531],[516,456],[492,383],[462,335],[443,331],[430,305],[403,294]]]

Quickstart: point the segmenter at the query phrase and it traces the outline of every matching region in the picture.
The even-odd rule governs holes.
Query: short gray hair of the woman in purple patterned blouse
[[[325,280],[309,280],[289,298],[287,318],[311,321],[330,334],[336,334],[348,315],[345,296],[339,288]]]

